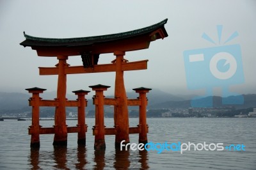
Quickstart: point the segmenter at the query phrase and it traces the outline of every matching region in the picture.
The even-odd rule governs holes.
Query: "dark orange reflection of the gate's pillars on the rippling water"
[[[94,157],[93,152],[86,153],[84,146],[54,146],[51,151],[31,148],[28,161],[31,169],[149,169],[147,151],[95,150]]]

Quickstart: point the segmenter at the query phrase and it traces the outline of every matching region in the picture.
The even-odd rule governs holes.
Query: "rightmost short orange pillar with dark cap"
[[[148,93],[151,89],[149,88],[136,88],[133,89],[136,91],[136,93],[140,93],[140,127],[141,132],[139,134],[139,143],[146,144],[148,143],[147,138],[147,97],[146,93]]]

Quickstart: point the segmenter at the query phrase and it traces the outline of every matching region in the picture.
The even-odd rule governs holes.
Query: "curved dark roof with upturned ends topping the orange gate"
[[[24,32],[26,40],[20,45],[35,49],[38,56],[77,56],[83,52],[102,54],[117,50],[147,49],[150,42],[168,36],[164,29],[167,20],[124,33],[80,38],[40,38],[26,35]]]

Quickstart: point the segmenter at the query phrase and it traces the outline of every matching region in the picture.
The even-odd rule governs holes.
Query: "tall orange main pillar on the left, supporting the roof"
[[[67,91],[67,74],[65,74],[65,66],[67,66],[67,56],[58,56],[58,89],[57,101],[58,106],[55,109],[54,119],[54,141],[53,145],[67,145],[67,125],[66,125],[66,91]]]

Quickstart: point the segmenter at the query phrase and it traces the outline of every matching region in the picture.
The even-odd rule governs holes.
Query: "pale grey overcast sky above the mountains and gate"
[[[56,58],[38,57],[35,50],[19,45],[23,31],[45,38],[73,38],[121,33],[151,26],[168,19],[168,37],[150,43],[149,49],[127,52],[129,61],[148,59],[147,70],[125,72],[125,87],[145,86],[172,94],[193,94],[186,82],[184,50],[218,47],[202,38],[206,33],[218,42],[239,34],[225,45],[239,44],[244,83],[230,84],[232,91],[256,93],[256,1],[3,1],[0,0],[0,91],[26,93],[40,87],[56,91],[56,75],[39,75],[38,66],[54,66]],[[110,63],[113,54],[100,55],[99,63]],[[70,65],[82,65],[80,56],[70,56]],[[202,80],[204,81],[204,80]],[[200,83],[200,82],[198,82]],[[68,75],[67,93],[105,84],[113,93],[115,73]],[[220,87],[214,88],[218,93]]]

